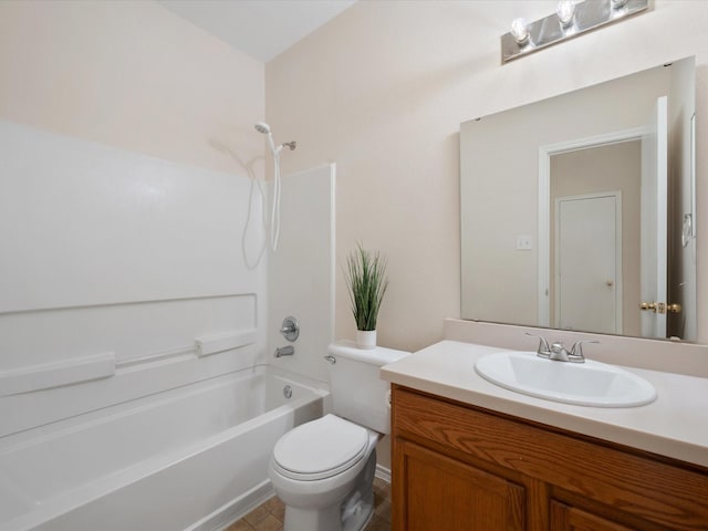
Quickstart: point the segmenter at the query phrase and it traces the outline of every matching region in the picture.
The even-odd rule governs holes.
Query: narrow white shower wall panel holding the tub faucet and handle
[[[326,382],[324,356],[334,340],[334,281],[340,274],[334,263],[335,165],[283,176],[282,186],[280,243],[269,260],[268,352],[272,364]],[[300,323],[294,343],[279,333],[289,315]],[[275,348],[287,345],[294,346],[294,355],[274,358]]]

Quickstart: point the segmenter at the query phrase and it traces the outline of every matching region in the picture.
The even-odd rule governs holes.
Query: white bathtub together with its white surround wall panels
[[[280,249],[253,267],[248,176],[9,121],[0,150],[0,527],[117,503],[118,528],[212,529],[270,496],[270,447],[329,404],[334,166],[283,179]],[[282,312],[303,334],[274,360]]]

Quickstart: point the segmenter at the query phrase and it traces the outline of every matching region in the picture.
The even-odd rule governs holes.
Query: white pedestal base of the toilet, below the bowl
[[[374,513],[376,451],[372,451],[356,485],[344,500],[330,507],[302,509],[285,506],[283,531],[361,531]]]

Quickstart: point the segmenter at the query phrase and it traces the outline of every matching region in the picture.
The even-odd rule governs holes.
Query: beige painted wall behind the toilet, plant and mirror
[[[500,65],[511,20],[545,17],[555,3],[361,0],[266,65],[267,118],[298,139],[285,173],[337,163],[337,262],[356,240],[388,256],[379,343],[420,348],[442,336],[442,317],[459,315],[460,122],[693,54],[699,114],[708,103],[699,1],[657,0],[648,13]],[[707,127],[698,122],[699,145]],[[708,175],[701,149],[698,175]],[[708,219],[698,221],[706,233]],[[708,294],[700,299],[699,322]],[[335,334],[353,337],[341,272],[336,300]]]

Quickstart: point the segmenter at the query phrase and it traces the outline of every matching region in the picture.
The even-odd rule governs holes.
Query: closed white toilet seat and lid
[[[273,468],[302,481],[326,479],[356,465],[367,454],[368,430],[335,415],[302,424],[273,449]]]

